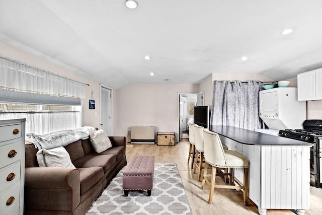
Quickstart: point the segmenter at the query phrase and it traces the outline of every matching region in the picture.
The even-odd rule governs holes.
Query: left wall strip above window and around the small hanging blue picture
[[[41,57],[37,57],[30,53],[21,51],[13,46],[0,42],[0,55],[3,57],[8,57],[14,60],[19,60],[23,63],[26,63],[30,66],[35,66],[44,70],[51,71],[54,74],[58,74],[60,76],[64,76],[70,78],[72,80],[89,84],[90,86],[86,86],[86,98],[83,99],[83,125],[89,125],[93,127],[99,127],[100,125],[100,84],[92,79],[79,75],[75,71],[71,69],[63,68],[62,66],[58,66],[50,62],[48,59],[43,59]],[[91,93],[93,91],[95,106],[96,109],[89,109],[89,100],[91,99]],[[97,112],[97,117],[94,116],[95,112]]]

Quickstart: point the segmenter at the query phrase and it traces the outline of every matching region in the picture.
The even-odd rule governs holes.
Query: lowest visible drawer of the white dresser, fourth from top
[[[0,195],[0,214],[8,214],[19,207],[20,183]]]

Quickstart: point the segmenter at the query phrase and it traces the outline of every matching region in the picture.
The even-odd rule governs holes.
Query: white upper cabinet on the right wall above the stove
[[[297,75],[298,101],[322,100],[322,68]]]

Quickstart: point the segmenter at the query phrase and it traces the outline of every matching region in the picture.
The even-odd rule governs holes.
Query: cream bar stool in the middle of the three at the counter
[[[201,170],[203,169],[203,153],[204,153],[204,146],[203,146],[203,129],[204,127],[199,125],[193,126],[194,133],[195,133],[195,148],[196,148],[196,157],[195,163],[193,167],[193,173],[196,173],[196,169],[198,168],[198,181],[201,179]],[[198,162],[199,157],[199,162]],[[198,164],[199,163],[199,164]]]

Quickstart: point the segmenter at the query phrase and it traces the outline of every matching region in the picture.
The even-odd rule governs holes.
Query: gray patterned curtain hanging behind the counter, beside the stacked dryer
[[[214,81],[210,125],[230,125],[254,130],[259,118],[259,81]]]

